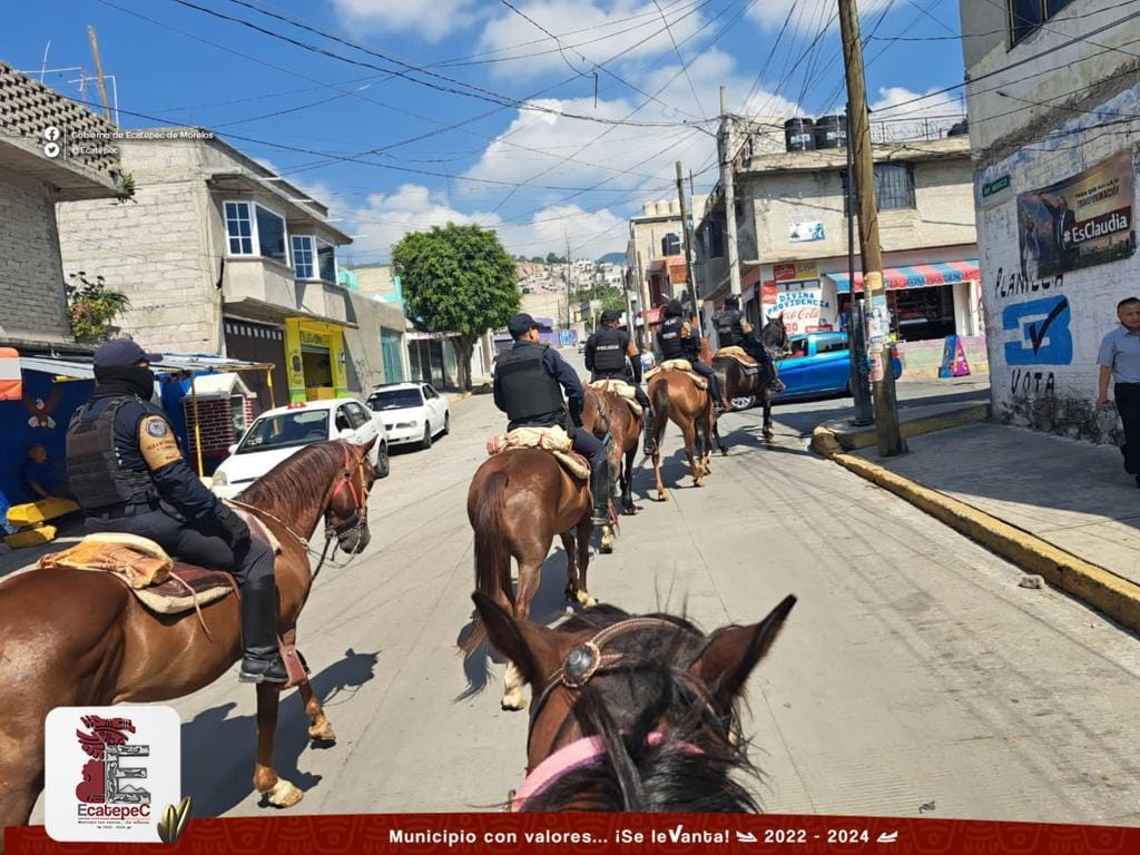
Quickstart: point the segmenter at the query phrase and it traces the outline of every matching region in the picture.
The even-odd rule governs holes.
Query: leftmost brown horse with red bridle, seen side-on
[[[301,538],[311,537],[324,518],[345,552],[356,554],[368,545],[370,446],[307,446],[238,496],[282,546],[275,575],[278,627],[286,643],[295,640],[315,578]],[[0,719],[0,824],[26,824],[43,789],[43,719],[54,707],[181,698],[213,683],[241,659],[237,597],[203,606],[202,618],[210,637],[193,611],[156,614],[101,572],[46,568],[0,584],[0,685],[14,701]],[[312,722],[310,739],[335,741],[312,686],[306,681],[298,689]],[[303,792],[274,771],[279,697],[280,686],[258,685],[253,787],[271,805],[290,807]]]

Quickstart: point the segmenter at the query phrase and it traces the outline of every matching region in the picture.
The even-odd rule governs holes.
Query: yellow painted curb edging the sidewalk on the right
[[[821,438],[820,443],[825,446],[826,438]],[[815,446],[816,437],[813,435],[812,447]],[[1102,567],[1091,564],[964,502],[895,474],[870,461],[839,451],[826,456],[840,466],[890,490],[951,528],[977,540],[1026,572],[1040,575],[1053,587],[1072,594],[1113,620],[1130,629],[1140,630],[1140,585],[1123,579]]]

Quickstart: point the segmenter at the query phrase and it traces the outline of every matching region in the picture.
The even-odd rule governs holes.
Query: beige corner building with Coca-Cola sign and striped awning
[[[776,135],[774,127],[764,132]],[[741,306],[757,326],[782,312],[792,335],[844,328],[852,300],[846,149],[774,147],[746,146],[734,161]],[[969,139],[877,145],[873,157],[883,278],[904,370],[936,374],[951,334],[971,367],[984,369]],[[706,306],[716,308],[730,291],[719,184],[698,213],[698,279]],[[857,245],[854,279],[861,298]]]

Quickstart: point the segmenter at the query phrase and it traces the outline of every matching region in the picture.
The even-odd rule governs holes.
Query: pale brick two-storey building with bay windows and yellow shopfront
[[[116,140],[133,203],[57,212],[65,274],[127,292],[120,325],[148,348],[275,365],[247,378],[261,408],[384,381],[382,331],[402,335],[402,312],[339,284],[351,238],[325,205],[212,135],[135,133]]]

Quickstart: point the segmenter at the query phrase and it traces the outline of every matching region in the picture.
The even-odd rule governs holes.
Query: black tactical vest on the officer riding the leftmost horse
[[[89,401],[75,410],[67,426],[67,479],[84,511],[157,496],[141,454],[137,461],[123,461],[115,447],[115,416],[132,402],[125,396]]]

